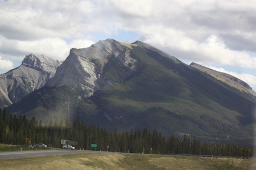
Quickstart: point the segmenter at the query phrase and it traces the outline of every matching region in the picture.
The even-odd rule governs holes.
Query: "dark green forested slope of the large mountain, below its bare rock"
[[[116,84],[87,99],[77,98],[80,91],[71,86],[40,89],[8,109],[44,120],[60,120],[68,113],[71,120],[80,116],[86,124],[119,131],[155,127],[167,136],[187,134],[202,141],[252,145],[255,102],[249,97],[152,50],[140,46],[129,50],[138,61],[137,69],[131,71],[110,58],[103,71]],[[28,101],[29,110],[22,107]]]

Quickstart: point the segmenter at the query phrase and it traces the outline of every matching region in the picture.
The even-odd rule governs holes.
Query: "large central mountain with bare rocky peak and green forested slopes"
[[[253,145],[255,96],[141,41],[71,49],[46,86],[8,107],[43,122],[74,120],[109,130]]]

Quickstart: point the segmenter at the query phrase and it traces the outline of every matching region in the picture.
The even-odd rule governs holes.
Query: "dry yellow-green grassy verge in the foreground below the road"
[[[256,169],[253,160],[243,159],[241,162],[240,160],[100,153],[0,160],[0,169]]]

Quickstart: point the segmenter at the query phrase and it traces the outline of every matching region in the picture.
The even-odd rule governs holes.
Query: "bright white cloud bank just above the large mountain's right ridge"
[[[198,42],[186,36],[184,32],[172,28],[154,25],[144,27],[142,30],[144,42],[163,49],[179,59],[256,69],[256,57],[250,57],[245,51],[226,48],[221,38],[215,35],[209,35],[205,41]]]

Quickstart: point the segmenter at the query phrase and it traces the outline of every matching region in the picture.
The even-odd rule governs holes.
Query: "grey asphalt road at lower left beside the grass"
[[[0,152],[0,159],[20,159],[20,158],[32,158],[32,157],[40,157],[40,156],[65,155],[65,154],[90,154],[90,153],[98,153],[98,152],[100,151],[47,150],[47,151]]]

